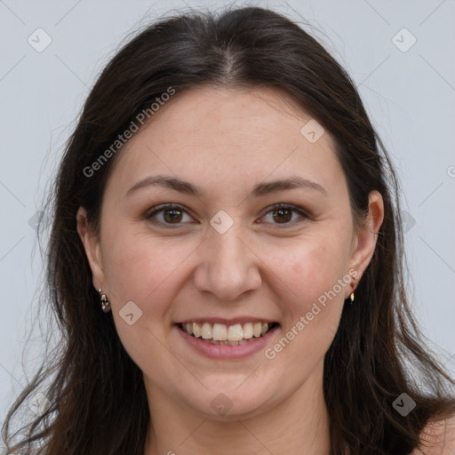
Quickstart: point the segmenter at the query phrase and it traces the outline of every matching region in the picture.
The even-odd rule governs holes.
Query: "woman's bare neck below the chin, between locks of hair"
[[[321,365],[297,390],[267,411],[247,419],[223,421],[184,411],[181,403],[146,385],[153,427],[149,427],[144,454],[328,455],[329,419],[322,372]]]

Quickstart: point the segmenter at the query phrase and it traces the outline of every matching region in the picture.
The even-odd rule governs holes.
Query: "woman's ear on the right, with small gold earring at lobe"
[[[355,282],[358,283],[365,271],[365,268],[370,264],[376,242],[378,240],[379,228],[384,220],[384,201],[379,191],[371,191],[369,195],[368,215],[359,227],[353,241],[351,258],[349,259],[349,267],[354,268],[357,272]],[[350,287],[347,287],[348,295],[352,292]]]

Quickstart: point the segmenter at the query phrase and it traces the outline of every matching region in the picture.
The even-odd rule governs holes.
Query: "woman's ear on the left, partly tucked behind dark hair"
[[[101,255],[101,246],[98,236],[92,232],[87,220],[84,207],[79,207],[76,213],[77,234],[84,243],[85,254],[92,269],[93,286],[98,291],[104,283],[104,267]]]

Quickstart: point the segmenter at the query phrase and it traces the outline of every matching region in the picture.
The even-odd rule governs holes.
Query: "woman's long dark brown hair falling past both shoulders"
[[[112,315],[100,311],[76,212],[83,206],[100,232],[103,191],[121,151],[94,176],[84,169],[169,87],[178,97],[202,84],[288,92],[335,138],[355,220],[368,210],[371,190],[381,193],[385,218],[376,251],[325,355],[323,393],[331,455],[410,453],[430,419],[455,412],[448,394],[455,382],[428,354],[407,303],[398,180],[346,71],[296,23],[256,7],[156,21],[116,53],[93,86],[46,205],[52,216],[46,299],[62,339],[13,404],[4,440],[21,453],[142,455],[150,423],[142,372]],[[12,416],[52,376],[44,393],[51,407],[12,444]],[[402,393],[417,403],[405,417],[392,406]]]

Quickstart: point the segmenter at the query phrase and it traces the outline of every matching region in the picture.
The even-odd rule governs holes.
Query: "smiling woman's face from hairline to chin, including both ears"
[[[100,239],[83,209],[78,226],[150,405],[235,419],[320,389],[382,221],[373,193],[355,228],[331,135],[283,92],[199,87],[164,104],[118,153]],[[152,214],[162,204],[176,207]],[[278,325],[257,338],[255,323]],[[204,340],[215,333],[244,341]]]

